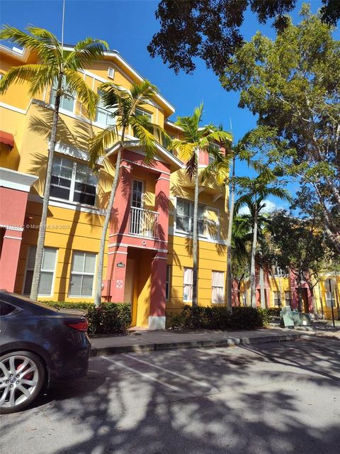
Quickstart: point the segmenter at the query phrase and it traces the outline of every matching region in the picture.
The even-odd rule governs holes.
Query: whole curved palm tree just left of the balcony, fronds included
[[[157,87],[145,80],[140,83],[132,84],[130,91],[119,87],[112,82],[101,84],[99,90],[103,92],[102,101],[106,109],[110,109],[111,117],[115,118],[113,125],[108,126],[94,137],[90,142],[90,162],[94,166],[98,157],[105,155],[106,150],[115,143],[119,143],[117,160],[115,162],[115,175],[111,188],[110,199],[106,207],[106,215],[101,233],[101,245],[98,254],[98,265],[96,272],[96,290],[94,303],[98,307],[101,305],[101,292],[103,284],[103,262],[105,255],[105,241],[108,226],[111,219],[111,211],[115,200],[115,192],[118,185],[120,174],[120,160],[124,149],[125,135],[129,128],[140,140],[140,145],[145,148],[146,161],[152,160],[157,153],[156,142],[161,142],[165,136],[164,130],[149,121],[148,116],[140,115],[140,109],[154,98],[158,93]]]

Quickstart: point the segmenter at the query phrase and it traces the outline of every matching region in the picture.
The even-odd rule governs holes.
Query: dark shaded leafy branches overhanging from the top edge
[[[340,2],[322,0],[321,18],[333,26],[340,18]],[[176,73],[193,72],[195,57],[202,58],[217,75],[223,74],[229,58],[243,43],[240,28],[246,9],[260,23],[275,18],[274,26],[287,26],[285,13],[297,0],[162,0],[156,11],[160,30],[154,34],[148,50],[159,55]]]

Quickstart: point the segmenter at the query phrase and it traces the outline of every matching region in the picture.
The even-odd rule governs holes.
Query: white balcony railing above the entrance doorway
[[[158,237],[158,213],[131,206],[130,233],[144,238]]]

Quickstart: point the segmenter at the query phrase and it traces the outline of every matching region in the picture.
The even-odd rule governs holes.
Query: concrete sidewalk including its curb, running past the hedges
[[[91,338],[91,356],[177,348],[228,347],[293,341],[301,337],[306,337],[306,333],[282,328],[253,331],[135,331],[125,336]]]

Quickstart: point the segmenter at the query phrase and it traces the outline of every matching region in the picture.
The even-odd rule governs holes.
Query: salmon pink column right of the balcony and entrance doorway
[[[151,265],[149,329],[165,328],[166,257],[169,231],[170,177],[162,173],[155,184],[155,210],[158,217],[159,250]]]

